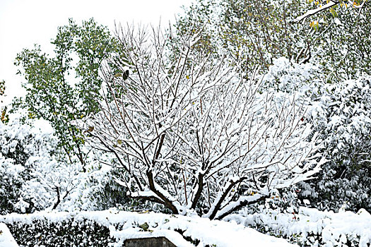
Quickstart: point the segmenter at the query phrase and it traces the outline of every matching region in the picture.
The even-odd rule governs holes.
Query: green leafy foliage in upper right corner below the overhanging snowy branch
[[[337,18],[326,13],[321,30],[326,30],[316,47],[314,63],[321,64],[329,80],[354,79],[371,73],[371,6],[366,4],[358,11],[346,8]]]

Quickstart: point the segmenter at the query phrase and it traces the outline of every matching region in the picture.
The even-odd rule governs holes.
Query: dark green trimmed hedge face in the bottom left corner
[[[31,215],[30,215],[31,216]],[[112,242],[108,227],[93,219],[76,219],[74,215],[49,215],[4,220],[19,246],[108,246]],[[53,215],[54,216],[54,215]],[[11,218],[10,215],[9,218]],[[23,218],[23,219],[22,219]],[[26,219],[25,219],[26,218]]]

